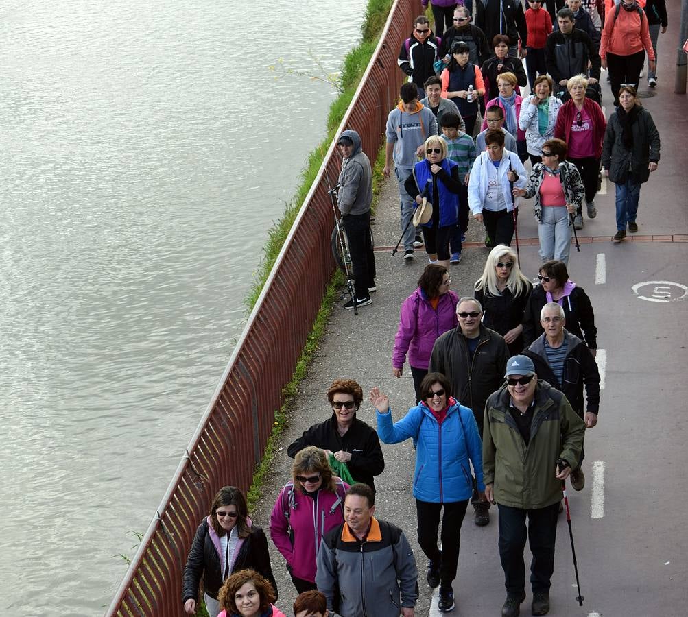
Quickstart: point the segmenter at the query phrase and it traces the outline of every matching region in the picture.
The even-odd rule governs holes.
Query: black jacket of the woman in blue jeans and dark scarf
[[[633,147],[627,150],[623,144],[623,130],[619,120],[619,111],[614,111],[607,124],[602,142],[602,165],[609,170],[609,179],[615,184],[626,182],[629,171],[636,182],[647,182],[650,161],[659,162],[659,131],[654,125],[652,116],[645,107],[638,110],[633,123]]]

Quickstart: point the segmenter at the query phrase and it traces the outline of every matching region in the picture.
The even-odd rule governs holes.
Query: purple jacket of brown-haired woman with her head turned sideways
[[[409,365],[415,369],[427,369],[436,338],[458,325],[456,305],[459,296],[449,291],[440,296],[434,310],[420,287],[401,305],[399,329],[394,337],[394,354],[391,365],[395,369],[404,366],[406,354]]]

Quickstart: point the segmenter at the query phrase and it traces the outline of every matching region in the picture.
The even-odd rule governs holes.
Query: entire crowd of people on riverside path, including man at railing
[[[416,537],[438,609],[460,608],[460,530],[471,506],[479,528],[497,509],[502,616],[519,615],[527,597],[526,541],[530,611],[550,611],[566,481],[585,488],[583,440],[600,399],[594,310],[568,273],[571,234],[583,228],[583,204],[588,219],[596,217],[601,168],[616,184],[613,240],[638,230],[640,188],[660,154],[638,85],[647,54],[648,85],[656,87],[667,14],[665,0],[528,5],[431,0],[435,32],[422,15],[401,45],[398,67],[409,80],[387,119],[383,173],[398,182],[404,259],[424,246],[429,261],[400,307],[391,354],[392,376],[408,365],[415,401],[396,402],[405,411],[393,412],[379,387],[365,397],[356,381],[334,380],[323,419],[288,446],[291,479],[275,496],[269,535],[299,594],[297,617],[414,615],[418,555],[404,530],[376,516],[385,490],[375,481],[385,470],[380,442],[407,440]],[[601,68],[614,94],[609,120]],[[376,290],[372,168],[356,131],[336,143],[336,203],[355,283],[345,308],[356,308]],[[533,197],[542,262],[535,286],[511,248],[519,201]],[[474,295],[460,298],[450,270],[471,215],[491,251]],[[376,426],[357,417],[363,404]],[[226,486],[193,539],[184,610],[197,611],[202,583],[211,617],[283,616],[274,566],[245,495]]]

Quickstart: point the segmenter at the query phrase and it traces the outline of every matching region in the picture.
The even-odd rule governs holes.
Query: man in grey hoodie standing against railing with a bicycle
[[[356,131],[343,131],[337,145],[343,159],[337,182],[337,204],[354,264],[356,306],[365,306],[372,302],[370,292],[375,290],[375,255],[370,238],[373,175],[370,160],[361,148],[361,137]],[[354,308],[353,299],[344,308]]]

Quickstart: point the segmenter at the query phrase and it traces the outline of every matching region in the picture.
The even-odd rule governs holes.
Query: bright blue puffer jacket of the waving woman
[[[413,497],[431,503],[450,503],[471,499],[475,470],[478,490],[482,481],[482,442],[473,411],[449,398],[447,418],[440,425],[424,402],[411,407],[404,418],[391,421],[387,413],[376,412],[378,435],[385,444],[397,444],[409,437],[416,447]]]

